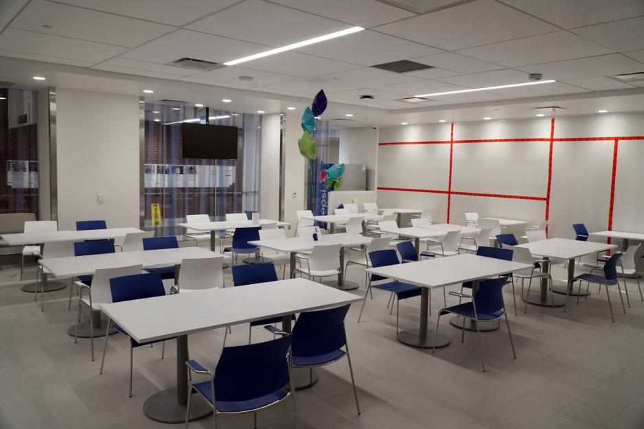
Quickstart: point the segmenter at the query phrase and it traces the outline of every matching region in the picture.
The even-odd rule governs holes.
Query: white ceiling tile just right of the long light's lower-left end
[[[326,58],[299,54],[298,52],[282,52],[281,54],[244,62],[244,67],[298,76],[299,78],[310,78],[311,76],[360,68],[358,65],[347,62],[327,60]]]

